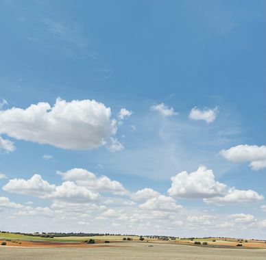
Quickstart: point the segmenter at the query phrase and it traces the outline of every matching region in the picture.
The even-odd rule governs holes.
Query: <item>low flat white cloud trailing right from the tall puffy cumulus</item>
[[[204,198],[204,203],[225,205],[230,203],[256,203],[258,200],[263,200],[263,195],[254,192],[254,190],[237,190],[231,187],[224,196]]]

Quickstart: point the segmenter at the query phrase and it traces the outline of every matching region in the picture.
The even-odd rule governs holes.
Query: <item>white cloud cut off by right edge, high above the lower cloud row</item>
[[[221,155],[233,161],[238,162],[250,162],[250,167],[252,170],[260,170],[266,168],[266,146],[256,146],[240,144],[238,146],[233,146],[228,150],[220,151]]]

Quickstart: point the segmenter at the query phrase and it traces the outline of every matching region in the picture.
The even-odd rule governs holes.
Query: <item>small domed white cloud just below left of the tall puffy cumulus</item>
[[[156,211],[176,211],[182,209],[181,205],[176,204],[176,200],[171,197],[159,195],[154,198],[149,198],[140,209],[156,210]]]

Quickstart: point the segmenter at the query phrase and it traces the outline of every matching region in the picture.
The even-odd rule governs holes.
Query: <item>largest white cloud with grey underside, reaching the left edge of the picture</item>
[[[41,102],[26,109],[0,110],[0,134],[59,148],[89,150],[104,145],[116,132],[116,121],[110,116],[110,108],[97,101],[66,102],[58,98],[53,107]],[[12,143],[7,142],[0,139],[0,146],[12,151]]]

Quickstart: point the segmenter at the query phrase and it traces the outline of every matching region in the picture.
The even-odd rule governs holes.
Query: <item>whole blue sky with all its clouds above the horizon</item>
[[[266,2],[0,1],[0,230],[266,239]]]

